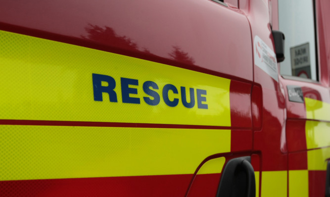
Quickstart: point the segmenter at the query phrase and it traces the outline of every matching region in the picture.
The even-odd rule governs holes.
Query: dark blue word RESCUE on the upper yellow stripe
[[[109,95],[110,102],[118,102],[117,94],[115,92],[116,81],[114,78],[108,75],[92,74],[93,77],[93,91],[94,100],[103,101],[102,93],[107,93]],[[107,86],[102,86],[102,82],[106,82]],[[121,96],[123,103],[134,103],[140,104],[140,98],[134,97],[133,95],[138,95],[139,80],[130,78],[120,78],[121,83]],[[136,86],[136,87],[132,87]],[[158,105],[160,103],[160,94],[157,92],[159,90],[158,85],[153,81],[145,81],[142,85],[143,92],[149,97],[143,97],[143,100],[148,105]],[[172,91],[174,95],[178,95],[178,89],[172,84],[166,84],[162,89],[162,97],[165,102],[170,107],[175,107],[179,104],[179,98],[169,98],[169,92]],[[197,108],[208,109],[208,104],[206,103],[206,90],[196,89],[196,99],[195,99],[195,89],[189,88],[189,98],[190,102],[187,101],[186,87],[180,87],[181,102],[183,106],[187,108],[193,108],[195,106],[195,100],[197,100]]]

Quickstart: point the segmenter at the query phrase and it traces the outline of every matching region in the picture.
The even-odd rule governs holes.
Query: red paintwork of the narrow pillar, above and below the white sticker
[[[258,36],[268,47],[274,49],[268,4],[253,0],[240,0],[239,5],[250,22],[251,39]],[[254,133],[254,149],[262,152],[262,170],[286,170],[287,155],[283,154],[286,150],[284,95],[279,83],[256,65],[254,65],[254,83],[261,87],[261,91],[259,89],[255,91],[259,92],[258,94],[262,92],[263,101],[262,110],[253,110],[253,116],[257,116],[258,111],[262,111],[261,128],[256,128],[258,130]],[[258,97],[254,96],[253,103],[260,103],[257,99]],[[253,121],[253,125],[260,125],[258,118],[253,118]]]

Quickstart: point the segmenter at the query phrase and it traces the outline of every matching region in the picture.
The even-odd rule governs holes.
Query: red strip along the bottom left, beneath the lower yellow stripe
[[[183,197],[191,174],[0,181],[1,197]]]

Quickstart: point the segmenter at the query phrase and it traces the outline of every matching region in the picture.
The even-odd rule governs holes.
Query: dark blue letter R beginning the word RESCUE
[[[117,102],[117,94],[113,90],[116,87],[116,81],[108,75],[92,74],[94,100],[103,101],[102,93],[108,93],[110,102]],[[102,86],[102,81],[108,82],[108,86]]]

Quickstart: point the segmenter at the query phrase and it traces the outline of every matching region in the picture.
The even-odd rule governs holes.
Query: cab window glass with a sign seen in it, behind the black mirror
[[[279,0],[279,29],[285,36],[281,75],[318,80],[313,0]]]

